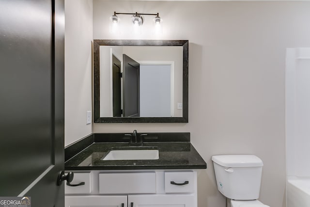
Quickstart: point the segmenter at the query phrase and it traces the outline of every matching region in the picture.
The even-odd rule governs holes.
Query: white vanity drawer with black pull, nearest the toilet
[[[192,193],[195,190],[193,171],[165,172],[166,193]]]

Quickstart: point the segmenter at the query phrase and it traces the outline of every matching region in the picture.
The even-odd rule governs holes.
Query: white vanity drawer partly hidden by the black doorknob
[[[84,182],[84,184],[82,184]],[[78,186],[68,186],[68,183],[64,182],[64,193],[65,194],[90,194],[91,193],[91,173],[74,173],[73,180],[70,185]]]

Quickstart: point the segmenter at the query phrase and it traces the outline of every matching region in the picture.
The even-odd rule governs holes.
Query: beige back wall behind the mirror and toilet
[[[114,11],[159,12],[163,34],[112,36]],[[208,165],[198,176],[199,207],[225,207],[212,155],[257,155],[264,163],[260,200],[284,207],[285,52],[310,47],[309,11],[310,2],[94,1],[94,39],[188,39],[190,44],[188,124],[93,124],[93,132],[191,132]],[[120,17],[127,27],[130,17]],[[143,27],[152,26],[148,21]]]

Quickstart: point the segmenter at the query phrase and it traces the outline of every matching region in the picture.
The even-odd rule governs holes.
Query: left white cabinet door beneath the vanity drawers
[[[64,207],[127,207],[127,196],[65,196]]]

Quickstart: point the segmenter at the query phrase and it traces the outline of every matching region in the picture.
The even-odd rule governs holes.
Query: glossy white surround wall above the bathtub
[[[286,56],[287,176],[310,176],[310,48],[288,48]]]

